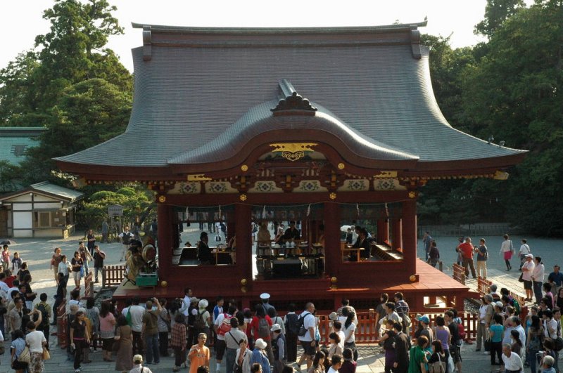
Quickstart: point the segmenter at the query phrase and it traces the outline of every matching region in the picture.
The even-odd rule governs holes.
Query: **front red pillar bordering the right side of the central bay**
[[[324,203],[324,273],[338,275],[342,267],[340,251],[340,206],[334,202]]]

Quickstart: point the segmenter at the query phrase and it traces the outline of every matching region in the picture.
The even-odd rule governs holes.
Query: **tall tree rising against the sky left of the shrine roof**
[[[122,34],[115,6],[106,0],[57,0],[43,18],[51,22],[51,31],[35,38],[41,46],[41,65],[34,74],[38,108],[48,110],[58,93],[87,79],[106,79],[123,91],[131,91],[132,80],[115,53],[104,48],[110,35]]]

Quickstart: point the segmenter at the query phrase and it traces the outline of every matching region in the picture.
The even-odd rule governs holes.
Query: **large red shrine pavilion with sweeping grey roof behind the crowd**
[[[403,292],[417,312],[436,299],[462,304],[469,289],[417,259],[419,192],[429,180],[506,178],[525,152],[448,124],[425,25],[134,24],[142,46],[132,50],[127,130],[56,159],[86,183],[156,192],[159,284],[124,284],[114,297],[191,287],[243,306],[268,292],[281,310],[290,301],[330,310],[343,298],[372,308],[381,292]],[[291,221],[298,233],[277,239]],[[224,229],[220,241],[209,234],[203,263],[196,242],[179,242],[188,223]],[[253,232],[260,225],[270,239]],[[345,242],[351,225],[372,237]]]

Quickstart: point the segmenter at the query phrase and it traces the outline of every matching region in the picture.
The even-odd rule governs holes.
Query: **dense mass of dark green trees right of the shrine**
[[[421,223],[502,220],[563,235],[563,1],[489,0],[476,32],[489,39],[471,49],[428,39],[438,103],[456,128],[529,155],[509,181],[429,183]]]

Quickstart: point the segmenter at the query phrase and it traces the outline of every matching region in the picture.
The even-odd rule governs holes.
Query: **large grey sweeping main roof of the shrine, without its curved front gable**
[[[133,49],[127,131],[58,160],[107,166],[166,166],[182,157],[193,162],[196,149],[217,143],[251,108],[275,100],[280,79],[363,138],[419,162],[519,155],[521,150],[488,144],[448,124],[432,91],[429,51],[416,48],[415,26],[399,26],[285,34],[146,27],[144,46]]]

